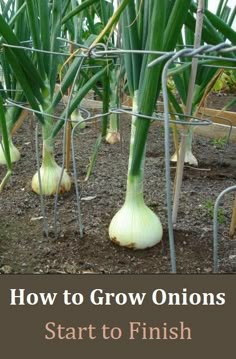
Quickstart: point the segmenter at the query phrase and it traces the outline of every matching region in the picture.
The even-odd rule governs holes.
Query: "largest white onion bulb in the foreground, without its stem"
[[[126,197],[109,226],[110,239],[132,249],[152,247],[161,241],[162,235],[159,218],[146,206],[141,194]]]

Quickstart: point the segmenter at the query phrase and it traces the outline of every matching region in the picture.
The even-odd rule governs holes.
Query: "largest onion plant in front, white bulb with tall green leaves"
[[[124,50],[172,51],[176,47],[191,0],[129,1],[122,15]],[[150,120],[161,89],[163,64],[147,68],[153,54],[125,55],[126,76],[133,98],[127,189],[122,208],[113,217],[109,235],[113,242],[143,249],[162,239],[158,216],[145,204],[143,194],[145,150]]]

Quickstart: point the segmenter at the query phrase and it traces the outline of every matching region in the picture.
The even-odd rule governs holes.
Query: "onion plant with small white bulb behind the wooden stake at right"
[[[196,12],[196,18],[197,18],[196,27],[195,27],[195,39],[196,39],[194,44],[195,48],[202,45],[204,41],[210,44],[217,44],[228,39],[232,41],[232,43],[234,44],[235,32],[230,28],[230,26],[232,25],[235,19],[236,16],[235,11],[236,11],[236,6],[234,9],[231,9],[228,6],[228,1],[220,1],[216,10],[216,15],[214,15],[208,10],[207,1],[198,1],[198,11],[197,11],[197,6],[194,2],[191,5],[191,12],[189,12],[186,21],[184,36],[181,36],[179,39],[180,44],[185,46],[193,46],[194,44],[194,32],[193,32],[193,24],[195,22],[193,17],[194,12]],[[204,12],[206,14],[205,16],[203,16]],[[190,18],[192,18],[193,21],[190,22]],[[203,40],[201,40],[203,22],[204,22]],[[182,60],[185,61],[185,63],[189,62],[188,59],[182,59]],[[192,66],[195,66],[196,68],[197,62],[198,60],[196,58],[193,59]],[[193,72],[191,72],[189,68],[185,68],[185,70],[182,73],[178,71],[178,74],[176,74],[173,78],[176,88],[179,92],[183,108],[185,109],[183,111],[185,111],[186,114],[194,115],[198,112],[199,105],[203,103],[204,98],[206,98],[209,92],[212,90],[212,87],[214,86],[214,83],[217,81],[218,77],[221,75],[221,72],[222,70],[218,69],[217,67],[206,67],[206,66],[201,66],[200,64],[200,66],[198,66],[198,71],[195,76],[196,84],[192,83],[190,88],[189,86],[189,84],[191,83],[190,76],[191,74],[193,74]],[[185,148],[185,163],[189,163],[190,165],[197,166],[198,165],[197,158],[192,153],[193,130],[194,128],[192,126],[188,128],[188,135],[186,137],[186,148]],[[173,162],[177,162],[177,153],[175,153],[172,156],[171,160]]]

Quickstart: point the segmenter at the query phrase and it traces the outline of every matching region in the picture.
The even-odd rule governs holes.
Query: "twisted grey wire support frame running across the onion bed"
[[[63,40],[64,41],[64,40]],[[75,44],[76,45],[76,44]],[[2,44],[2,46],[13,46],[13,45],[8,45],[8,44]],[[80,45],[78,44],[78,46],[80,47]],[[19,47],[19,46],[18,46]],[[43,51],[41,49],[35,49],[32,47],[23,47],[21,46],[20,48],[25,49],[26,51]],[[72,88],[71,88],[71,93],[68,97],[68,102],[67,102],[67,107],[66,107],[66,115],[64,118],[64,134],[63,134],[63,158],[62,158],[62,173],[61,173],[61,177],[60,177],[60,181],[58,183],[58,189],[60,187],[61,184],[61,180],[62,180],[62,176],[63,176],[63,170],[64,170],[64,164],[65,164],[65,128],[66,128],[66,124],[69,121],[69,107],[70,107],[70,103],[72,100],[72,93],[73,93],[73,88],[75,86],[75,83],[78,79],[78,76],[80,74],[81,68],[84,64],[84,61],[86,59],[89,58],[106,58],[106,59],[112,59],[114,57],[120,57],[126,53],[139,53],[139,54],[153,54],[156,55],[156,59],[153,60],[152,62],[150,62],[147,67],[150,68],[152,66],[155,66],[159,63],[163,63],[165,62],[163,71],[162,71],[162,89],[163,89],[163,102],[164,102],[164,113],[160,114],[157,113],[155,116],[144,116],[143,114],[136,114],[133,113],[132,111],[128,111],[129,114],[134,114],[136,116],[140,116],[142,118],[146,118],[147,120],[156,120],[156,121],[163,121],[164,118],[164,128],[165,128],[165,163],[166,163],[166,202],[167,202],[167,214],[168,214],[168,232],[169,232],[169,244],[170,244],[170,255],[171,255],[171,271],[172,273],[176,273],[176,254],[175,254],[175,243],[174,243],[174,231],[173,231],[173,223],[172,223],[172,205],[171,205],[171,177],[170,177],[170,130],[169,130],[169,125],[172,122],[171,118],[170,118],[170,113],[169,113],[169,108],[168,108],[168,91],[167,91],[167,79],[168,79],[168,71],[169,68],[171,66],[171,64],[173,63],[179,63],[181,57],[197,57],[199,59],[208,59],[208,60],[224,60],[224,62],[226,61],[230,61],[231,63],[234,62],[235,66],[236,66],[236,58],[229,58],[229,57],[225,57],[224,54],[227,55],[227,53],[229,52],[233,52],[235,51],[236,47],[235,46],[231,46],[230,44],[227,43],[221,43],[218,45],[203,45],[197,49],[193,49],[193,48],[183,48],[180,51],[176,52],[176,51],[171,51],[171,52],[161,52],[161,51],[148,51],[148,50],[144,50],[144,51],[140,51],[140,50],[122,50],[122,49],[107,49],[107,47],[104,44],[96,44],[94,47],[91,48],[83,48],[83,53],[79,53],[77,56],[80,56],[81,59],[81,63],[80,66],[77,70],[75,79],[73,81],[72,84]],[[52,53],[52,52],[49,52]],[[63,53],[63,52],[59,52],[60,55],[64,55],[68,57],[68,53]],[[211,54],[214,55],[211,55]],[[55,55],[58,53],[55,53]],[[215,55],[216,54],[216,55]],[[70,54],[71,55],[71,54]],[[203,64],[204,66],[204,64]],[[209,66],[209,64],[206,64],[206,66]],[[222,67],[219,65],[219,67]],[[16,104],[13,103],[13,101],[8,100],[8,104],[10,105],[15,105],[15,106],[19,106],[22,108],[25,108],[25,106],[23,104]],[[32,111],[31,109],[29,109],[27,107],[27,109],[29,111]],[[125,112],[126,110],[124,109],[112,109],[109,113],[112,112]],[[35,112],[35,111],[33,111]],[[42,115],[43,113],[40,112]],[[48,114],[46,114],[47,116],[49,116]],[[84,122],[87,122],[89,120],[92,120],[93,118],[98,118],[103,116],[104,114],[100,114],[99,116],[90,116],[88,114],[88,117],[84,120]],[[199,119],[195,118],[195,120],[193,120],[192,122],[189,121],[184,121],[181,118],[184,117],[183,114],[176,114],[179,115],[180,119],[177,119],[175,121],[173,121],[176,124],[181,124],[181,125],[209,125],[211,124],[211,121],[209,120],[203,120],[203,121],[199,121]],[[55,116],[53,116],[55,118]],[[192,117],[192,116],[191,116]],[[58,118],[58,120],[62,120],[61,118]],[[77,126],[76,126],[77,127]],[[74,140],[74,134],[75,134],[75,128],[72,131],[72,143]],[[230,133],[229,133],[230,135]],[[37,131],[36,131],[36,137],[37,137]],[[35,140],[36,143],[36,157],[37,157],[37,166],[38,166],[38,172],[39,172],[39,183],[41,182],[40,180],[40,171],[39,171],[39,152],[38,152],[38,139]],[[76,163],[75,163],[75,152],[74,152],[74,146],[72,146],[72,158],[73,158],[73,170],[74,170],[74,176],[75,176],[75,190],[76,190],[76,201],[77,201],[77,209],[78,209],[78,221],[79,221],[79,228],[80,228],[80,236],[83,236],[83,225],[82,225],[82,220],[81,220],[81,208],[80,208],[80,188],[78,185],[78,178],[77,178],[77,172],[76,172]],[[217,239],[217,229],[218,229],[218,223],[217,223],[217,211],[218,211],[218,204],[219,201],[221,199],[221,197],[233,190],[236,189],[235,187],[230,187],[229,189],[223,191],[217,202],[215,205],[215,211],[214,211],[214,216],[216,215],[216,219],[214,217],[214,270],[218,269],[218,239]],[[41,184],[40,184],[40,192],[41,191]],[[58,190],[57,190],[57,194],[55,195],[55,204],[54,204],[54,233],[55,233],[55,237],[57,237],[57,205],[58,205]],[[41,195],[41,207],[42,207],[42,213],[43,216],[46,218],[46,214],[45,214],[45,208],[44,208],[44,204],[43,204],[43,197]],[[46,223],[46,222],[45,222]],[[44,224],[44,228],[45,231],[47,232],[47,226],[46,224]]]

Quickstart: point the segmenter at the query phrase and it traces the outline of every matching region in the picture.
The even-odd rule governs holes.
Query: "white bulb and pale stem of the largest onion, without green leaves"
[[[137,111],[137,94],[133,99],[133,112]],[[127,190],[124,205],[113,217],[109,226],[110,239],[120,246],[132,249],[152,247],[162,239],[162,225],[158,216],[144,202],[143,179],[144,160],[142,157],[139,174],[131,172],[137,117],[132,116],[130,157]],[[145,235],[144,235],[145,234]]]

